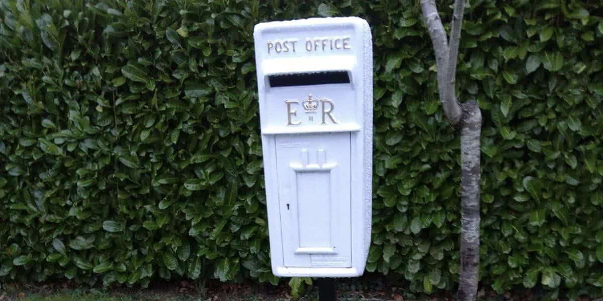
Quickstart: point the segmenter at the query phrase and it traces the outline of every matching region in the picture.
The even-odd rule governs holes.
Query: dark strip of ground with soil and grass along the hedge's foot
[[[63,300],[48,297],[69,296],[101,296],[92,298],[96,301],[318,301],[316,287],[306,287],[306,291],[299,297],[291,294],[286,281],[279,286],[270,284],[257,284],[255,282],[219,282],[210,280],[200,281],[156,281],[151,282],[148,288],[113,286],[88,287],[75,282],[48,282],[45,284],[1,284],[0,301],[37,301],[37,300]],[[339,301],[452,301],[453,293],[438,293],[437,296],[425,296],[408,293],[403,281],[388,281],[383,276],[365,275],[359,279],[339,279]],[[529,301],[541,300],[545,291],[517,290],[513,293],[496,294],[490,290],[480,290],[479,300],[488,301]],[[36,298],[30,298],[36,296]],[[77,298],[73,298],[74,300]],[[87,298],[86,300],[89,300]],[[572,301],[603,301],[584,297]]]

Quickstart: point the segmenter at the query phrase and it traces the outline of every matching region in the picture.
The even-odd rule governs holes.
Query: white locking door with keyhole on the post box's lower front
[[[275,142],[285,267],[351,267],[350,132]]]

